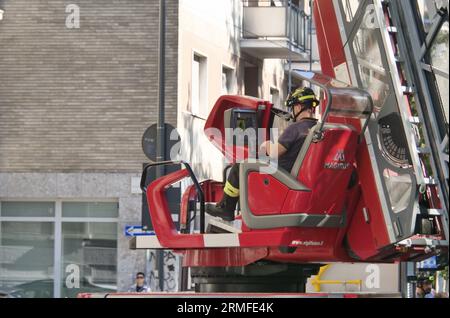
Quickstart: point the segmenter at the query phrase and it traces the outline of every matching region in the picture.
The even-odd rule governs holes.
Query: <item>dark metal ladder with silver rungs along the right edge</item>
[[[443,227],[448,240],[448,113],[443,104],[445,94],[448,101],[448,87],[437,82],[442,76],[448,83],[448,67],[441,69],[433,56],[435,50],[445,50],[438,42],[445,45],[441,31],[446,23],[447,46],[440,55],[447,56],[448,65],[448,8],[436,8],[428,33],[417,1],[383,1],[382,10],[388,34],[386,49],[392,49],[399,74],[394,85],[406,98],[402,119],[413,132],[411,159],[422,201],[416,224],[426,231],[426,222],[435,219],[434,225]]]

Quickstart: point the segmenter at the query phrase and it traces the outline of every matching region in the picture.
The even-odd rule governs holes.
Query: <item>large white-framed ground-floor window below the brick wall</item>
[[[0,290],[76,297],[117,289],[117,202],[0,202]]]

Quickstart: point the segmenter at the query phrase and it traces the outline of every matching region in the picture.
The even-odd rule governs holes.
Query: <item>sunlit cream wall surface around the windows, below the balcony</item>
[[[224,167],[223,155],[206,139],[203,127],[209,111],[222,94],[223,66],[234,70],[231,94],[244,93],[244,64],[256,64],[261,69],[258,81],[259,97],[269,99],[270,88],[276,88],[284,98],[282,60],[260,61],[243,56],[239,40],[242,31],[241,0],[180,0],[178,55],[178,131],[182,139],[182,158],[193,165],[200,179],[220,180]],[[207,59],[207,113],[193,116],[192,57],[200,54]]]

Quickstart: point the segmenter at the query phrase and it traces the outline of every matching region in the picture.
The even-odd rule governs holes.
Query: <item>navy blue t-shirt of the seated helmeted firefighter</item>
[[[309,130],[317,124],[317,119],[303,118],[289,125],[278,138],[278,143],[287,149],[286,153],[278,158],[278,166],[291,172],[298,152],[305,142]]]

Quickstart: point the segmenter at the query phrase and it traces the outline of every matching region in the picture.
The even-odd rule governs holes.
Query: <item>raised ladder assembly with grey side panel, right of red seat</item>
[[[448,88],[437,80],[448,70],[433,60],[445,51],[448,65],[448,8],[425,32],[418,1],[333,4],[349,80],[374,99],[366,141],[389,242],[448,246]]]

